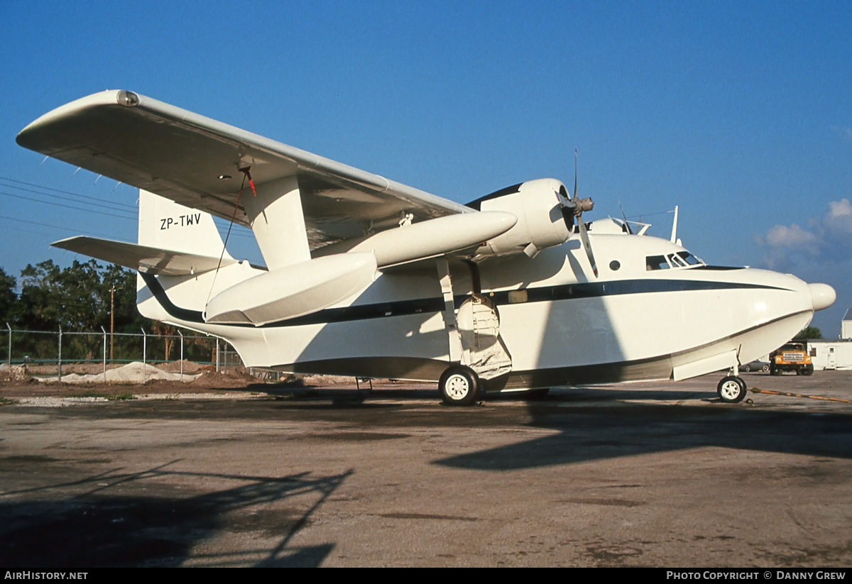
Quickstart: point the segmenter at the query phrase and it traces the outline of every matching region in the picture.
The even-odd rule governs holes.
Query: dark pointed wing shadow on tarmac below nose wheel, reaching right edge
[[[607,392],[607,396],[650,397],[643,390]],[[665,397],[676,399],[671,392]],[[696,394],[688,397],[695,399]],[[504,471],[704,447],[852,458],[848,411],[766,411],[748,409],[746,404],[613,407],[587,403],[571,409],[565,407],[565,401],[567,398],[549,398],[528,406],[533,416],[529,426],[558,434],[452,456],[435,464]]]

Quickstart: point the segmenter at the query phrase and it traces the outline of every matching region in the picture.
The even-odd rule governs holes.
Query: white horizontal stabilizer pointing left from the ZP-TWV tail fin
[[[219,258],[209,255],[185,254],[170,249],[149,248],[136,243],[89,238],[82,235],[62,239],[50,245],[154,276],[187,276],[210,272],[219,266]],[[229,255],[222,258],[222,267],[233,263],[236,263],[236,260]]]

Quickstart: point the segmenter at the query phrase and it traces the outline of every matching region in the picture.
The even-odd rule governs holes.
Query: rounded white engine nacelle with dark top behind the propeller
[[[482,211],[506,211],[518,222],[504,234],[489,239],[476,255],[509,255],[524,252],[531,257],[539,250],[561,245],[571,237],[573,210],[565,185],[556,179],[528,180],[494,192],[469,206]]]

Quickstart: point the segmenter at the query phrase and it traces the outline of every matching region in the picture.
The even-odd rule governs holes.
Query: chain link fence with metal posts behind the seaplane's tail
[[[6,323],[0,329],[0,347],[5,349],[3,362],[8,367],[26,365],[42,374],[62,379],[63,366],[101,364],[106,372],[113,365],[141,361],[164,364],[192,361],[215,364],[216,371],[241,368],[239,355],[226,341],[207,335],[157,335],[140,329],[138,333],[101,331],[77,332],[57,330],[20,330]]]

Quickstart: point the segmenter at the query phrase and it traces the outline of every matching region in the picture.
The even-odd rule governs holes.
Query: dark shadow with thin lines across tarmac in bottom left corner
[[[30,490],[7,491],[7,497],[27,495],[26,501],[0,503],[0,564],[7,567],[176,567],[318,566],[331,553],[333,543],[298,547],[294,535],[311,514],[343,484],[352,471],[328,477],[300,473],[285,477],[232,476],[178,472],[166,467],[172,461],[144,472],[111,471],[66,484]],[[239,481],[232,489],[186,498],[110,495],[110,490],[147,479],[181,475]],[[49,498],[51,491],[65,495]],[[314,503],[269,512],[277,501],[307,495]],[[298,508],[299,511],[294,509]],[[234,518],[236,515],[236,518]],[[236,524],[236,528],[234,525]],[[270,547],[252,547],[231,553],[199,555],[196,547],[222,530],[262,531],[273,535]],[[246,538],[257,541],[256,538]],[[268,538],[267,538],[268,541]]]

